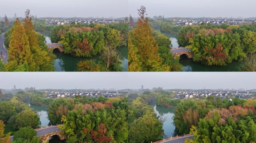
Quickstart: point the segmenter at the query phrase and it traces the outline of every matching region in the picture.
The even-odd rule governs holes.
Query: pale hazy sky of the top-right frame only
[[[141,5],[149,17],[256,17],[256,0],[129,0],[129,13],[137,17]]]

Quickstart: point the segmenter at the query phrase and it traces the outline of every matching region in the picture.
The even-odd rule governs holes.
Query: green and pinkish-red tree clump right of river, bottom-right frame
[[[239,99],[237,99],[239,100]],[[234,105],[233,105],[234,104]],[[195,135],[192,143],[253,143],[256,142],[256,101],[235,101],[229,106],[213,107],[191,124]],[[193,110],[195,115],[198,110]],[[196,120],[198,121],[198,119]]]

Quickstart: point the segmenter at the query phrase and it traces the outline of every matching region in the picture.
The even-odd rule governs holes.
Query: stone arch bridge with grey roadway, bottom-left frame
[[[37,137],[39,137],[42,143],[49,142],[49,139],[54,135],[57,135],[60,140],[66,139],[64,131],[61,131],[58,128],[58,125],[49,125],[46,127],[37,128],[35,130],[37,131]],[[10,136],[10,141],[13,141],[13,136]]]

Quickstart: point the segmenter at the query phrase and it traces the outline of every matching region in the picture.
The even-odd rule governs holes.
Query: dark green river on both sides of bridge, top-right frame
[[[171,40],[171,48],[179,47],[177,34],[162,32]],[[206,66],[201,63],[194,62],[192,58],[186,57],[186,55],[180,56],[180,63],[183,65],[182,71],[238,71],[238,67],[242,62],[233,60],[232,63],[227,66]]]

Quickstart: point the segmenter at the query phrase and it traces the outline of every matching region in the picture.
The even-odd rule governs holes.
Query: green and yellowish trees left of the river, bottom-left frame
[[[10,134],[22,127],[37,128],[40,126],[39,115],[36,114],[28,104],[31,96],[35,96],[36,91],[19,91],[12,95],[4,94],[0,100],[0,120],[8,125]],[[2,101],[4,99],[4,101]],[[7,133],[7,132],[6,132]]]

